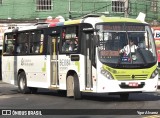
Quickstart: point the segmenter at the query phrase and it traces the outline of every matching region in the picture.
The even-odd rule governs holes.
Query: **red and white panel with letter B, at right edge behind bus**
[[[158,66],[160,67],[160,27],[152,27],[153,37],[156,43]]]

